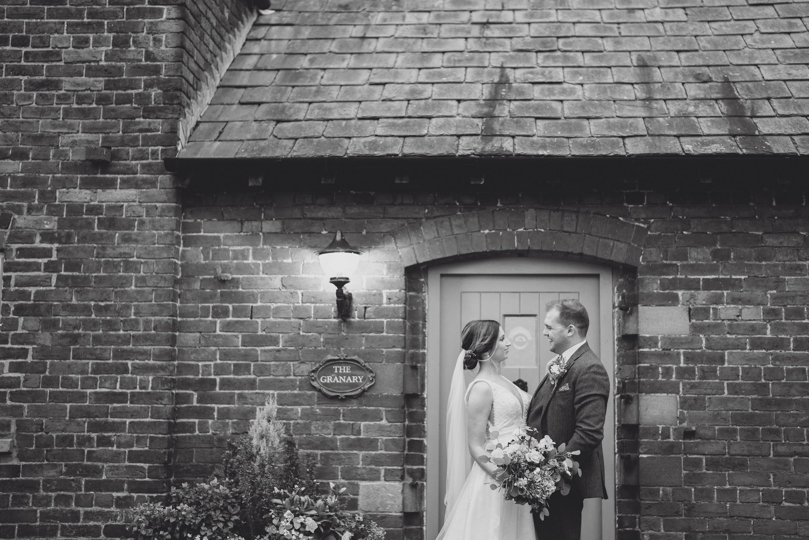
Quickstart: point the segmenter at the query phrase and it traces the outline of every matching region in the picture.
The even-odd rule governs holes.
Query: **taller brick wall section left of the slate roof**
[[[2,538],[121,536],[172,476],[180,206],[163,159],[251,16],[184,4],[0,6]]]

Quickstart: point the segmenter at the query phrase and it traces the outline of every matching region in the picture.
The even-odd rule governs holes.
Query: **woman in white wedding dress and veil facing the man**
[[[489,432],[499,432],[505,445],[517,428],[525,427],[530,398],[500,374],[510,345],[498,321],[471,321],[461,333],[463,350],[447,403],[447,517],[436,540],[536,538],[531,507],[506,501],[501,490],[491,489],[496,467],[481,460],[489,453]],[[464,389],[464,369],[478,366]]]

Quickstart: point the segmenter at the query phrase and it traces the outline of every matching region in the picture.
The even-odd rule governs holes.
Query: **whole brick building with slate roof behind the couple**
[[[809,3],[167,3],[2,8],[4,538],[124,536],[271,393],[431,538],[459,299],[562,293],[614,385],[592,534],[809,535]]]

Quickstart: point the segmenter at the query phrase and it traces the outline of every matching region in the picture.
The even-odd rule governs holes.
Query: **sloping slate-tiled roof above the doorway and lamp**
[[[180,159],[809,154],[809,2],[273,8]]]

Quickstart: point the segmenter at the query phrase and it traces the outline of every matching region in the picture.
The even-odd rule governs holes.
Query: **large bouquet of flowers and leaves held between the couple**
[[[498,432],[490,432],[486,449],[491,454],[481,456],[498,466],[498,480],[492,489],[506,491],[506,500],[517,504],[530,504],[531,512],[538,512],[540,519],[549,515],[547,501],[555,491],[562,495],[570,492],[566,479],[574,474],[582,475],[578,462],[573,461],[575,452],[565,452],[565,444],[557,448],[549,436],[539,438],[532,427],[519,429],[515,439],[503,445],[497,439]]]

